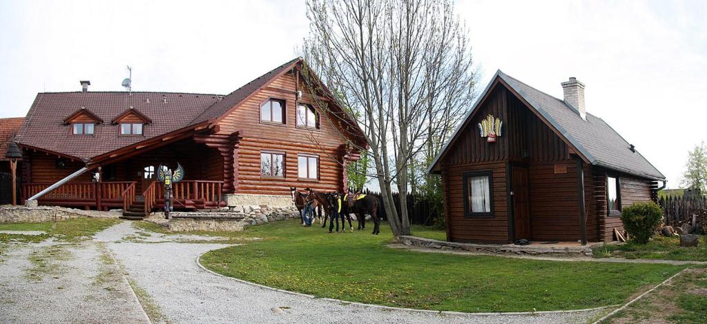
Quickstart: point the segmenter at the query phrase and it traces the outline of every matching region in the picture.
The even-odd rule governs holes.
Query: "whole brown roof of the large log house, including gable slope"
[[[151,138],[208,124],[300,63],[303,59],[292,59],[226,96],[182,92],[41,92],[27,113],[17,140],[27,148],[88,162],[93,157],[139,145]],[[117,128],[110,124],[98,125],[93,136],[81,136],[81,140],[77,140],[63,125],[64,117],[82,112],[89,112],[97,120],[112,122],[132,112],[144,116],[151,124],[144,127],[143,136],[119,136]],[[363,134],[355,121],[354,126],[355,131]]]

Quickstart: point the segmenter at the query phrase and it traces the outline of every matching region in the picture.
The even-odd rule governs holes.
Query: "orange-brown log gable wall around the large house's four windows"
[[[312,104],[320,116],[328,116],[327,109],[317,107],[317,102],[307,95],[309,92],[300,83],[303,91],[300,103]],[[263,193],[288,195],[290,187],[310,187],[321,191],[343,191],[344,175],[341,167],[344,152],[341,145],[346,141],[337,128],[336,121],[322,117],[320,129],[296,126],[296,78],[286,73],[276,78],[255,96],[240,104],[218,123],[219,133],[240,132],[243,139],[238,144],[237,193]],[[260,122],[260,104],[269,98],[285,100],[285,124]],[[267,179],[260,176],[260,152],[262,150],[286,152],[286,177]],[[320,156],[319,181],[298,179],[298,153]]]

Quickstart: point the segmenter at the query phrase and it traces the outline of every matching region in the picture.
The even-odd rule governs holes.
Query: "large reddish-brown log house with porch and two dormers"
[[[147,213],[164,203],[158,165],[177,162],[175,208],[216,208],[227,194],[289,201],[291,186],[343,191],[366,140],[305,68],[294,59],[228,95],[92,92],[88,81],[39,93],[15,137],[21,196],[69,177],[37,203]]]

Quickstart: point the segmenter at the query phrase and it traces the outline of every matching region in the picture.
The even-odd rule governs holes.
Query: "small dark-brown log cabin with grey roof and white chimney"
[[[656,200],[665,176],[585,109],[585,85],[557,99],[498,71],[430,172],[448,241],[612,241],[621,208]]]

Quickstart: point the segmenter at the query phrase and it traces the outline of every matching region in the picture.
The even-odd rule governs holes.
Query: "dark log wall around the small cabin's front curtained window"
[[[464,217],[464,172],[493,172],[493,217]],[[445,169],[443,176],[448,212],[448,240],[508,242],[508,193],[506,164],[503,162],[467,164]]]

